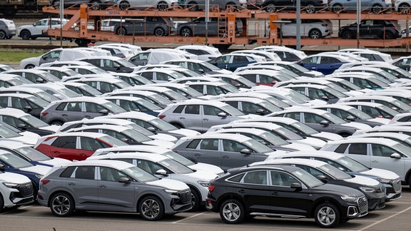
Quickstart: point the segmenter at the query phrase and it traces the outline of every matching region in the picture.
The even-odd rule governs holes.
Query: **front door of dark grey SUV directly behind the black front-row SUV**
[[[221,139],[221,168],[235,168],[238,166],[254,163],[255,152],[252,149],[235,140]],[[248,149],[251,153],[241,153],[241,150]]]

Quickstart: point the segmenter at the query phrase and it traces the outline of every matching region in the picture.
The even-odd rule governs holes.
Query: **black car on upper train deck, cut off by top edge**
[[[313,14],[318,9],[328,6],[327,0],[300,0],[301,9],[304,9],[308,14]],[[263,1],[263,10],[268,13],[275,13],[280,9],[295,10],[297,1],[295,0],[265,0]]]

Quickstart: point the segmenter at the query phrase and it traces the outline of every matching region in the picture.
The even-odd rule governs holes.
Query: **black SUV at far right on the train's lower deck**
[[[342,39],[357,39],[357,24],[340,27],[338,37]],[[392,21],[362,20],[360,23],[360,39],[397,39],[401,37]]]

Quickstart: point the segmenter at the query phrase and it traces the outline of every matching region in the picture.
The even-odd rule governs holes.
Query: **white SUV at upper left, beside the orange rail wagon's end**
[[[63,25],[67,22],[67,19],[63,19]],[[37,37],[47,37],[48,35],[44,34],[44,31],[60,26],[61,21],[58,18],[40,19],[34,24],[20,26],[17,30],[17,36],[24,40],[37,39]]]

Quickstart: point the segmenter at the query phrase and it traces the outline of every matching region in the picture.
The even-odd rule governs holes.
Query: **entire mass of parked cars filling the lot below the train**
[[[1,66],[0,163],[27,177],[3,185],[10,194],[32,182],[4,206],[35,199],[61,217],[146,220],[206,206],[227,223],[269,215],[335,227],[411,185],[409,59],[106,44]]]

